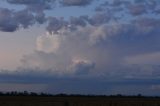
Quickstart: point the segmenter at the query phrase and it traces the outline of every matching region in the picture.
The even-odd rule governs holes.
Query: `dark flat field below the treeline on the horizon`
[[[0,106],[160,106],[160,99],[0,96]]]

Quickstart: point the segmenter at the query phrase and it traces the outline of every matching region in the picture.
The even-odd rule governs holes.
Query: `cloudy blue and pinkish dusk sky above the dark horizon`
[[[159,0],[1,0],[0,91],[160,96]]]

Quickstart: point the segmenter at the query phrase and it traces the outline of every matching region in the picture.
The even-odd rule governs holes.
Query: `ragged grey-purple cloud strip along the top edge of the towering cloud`
[[[110,22],[110,20],[114,20],[114,17],[110,13],[102,12],[96,13],[93,16],[80,16],[80,17],[69,17],[69,20],[64,20],[64,18],[57,17],[49,17],[48,18],[48,26],[47,31],[58,32],[62,28],[70,29],[72,31],[76,31],[77,27],[86,27],[88,25],[91,26],[101,26]]]

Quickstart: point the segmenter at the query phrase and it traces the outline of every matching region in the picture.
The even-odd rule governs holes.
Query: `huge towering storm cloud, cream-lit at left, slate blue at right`
[[[76,30],[60,28],[56,34],[37,38],[37,51],[22,59],[24,66],[69,76],[152,77],[159,73],[158,66],[132,63],[132,56],[158,51],[159,21],[147,20],[150,21],[78,26]]]

